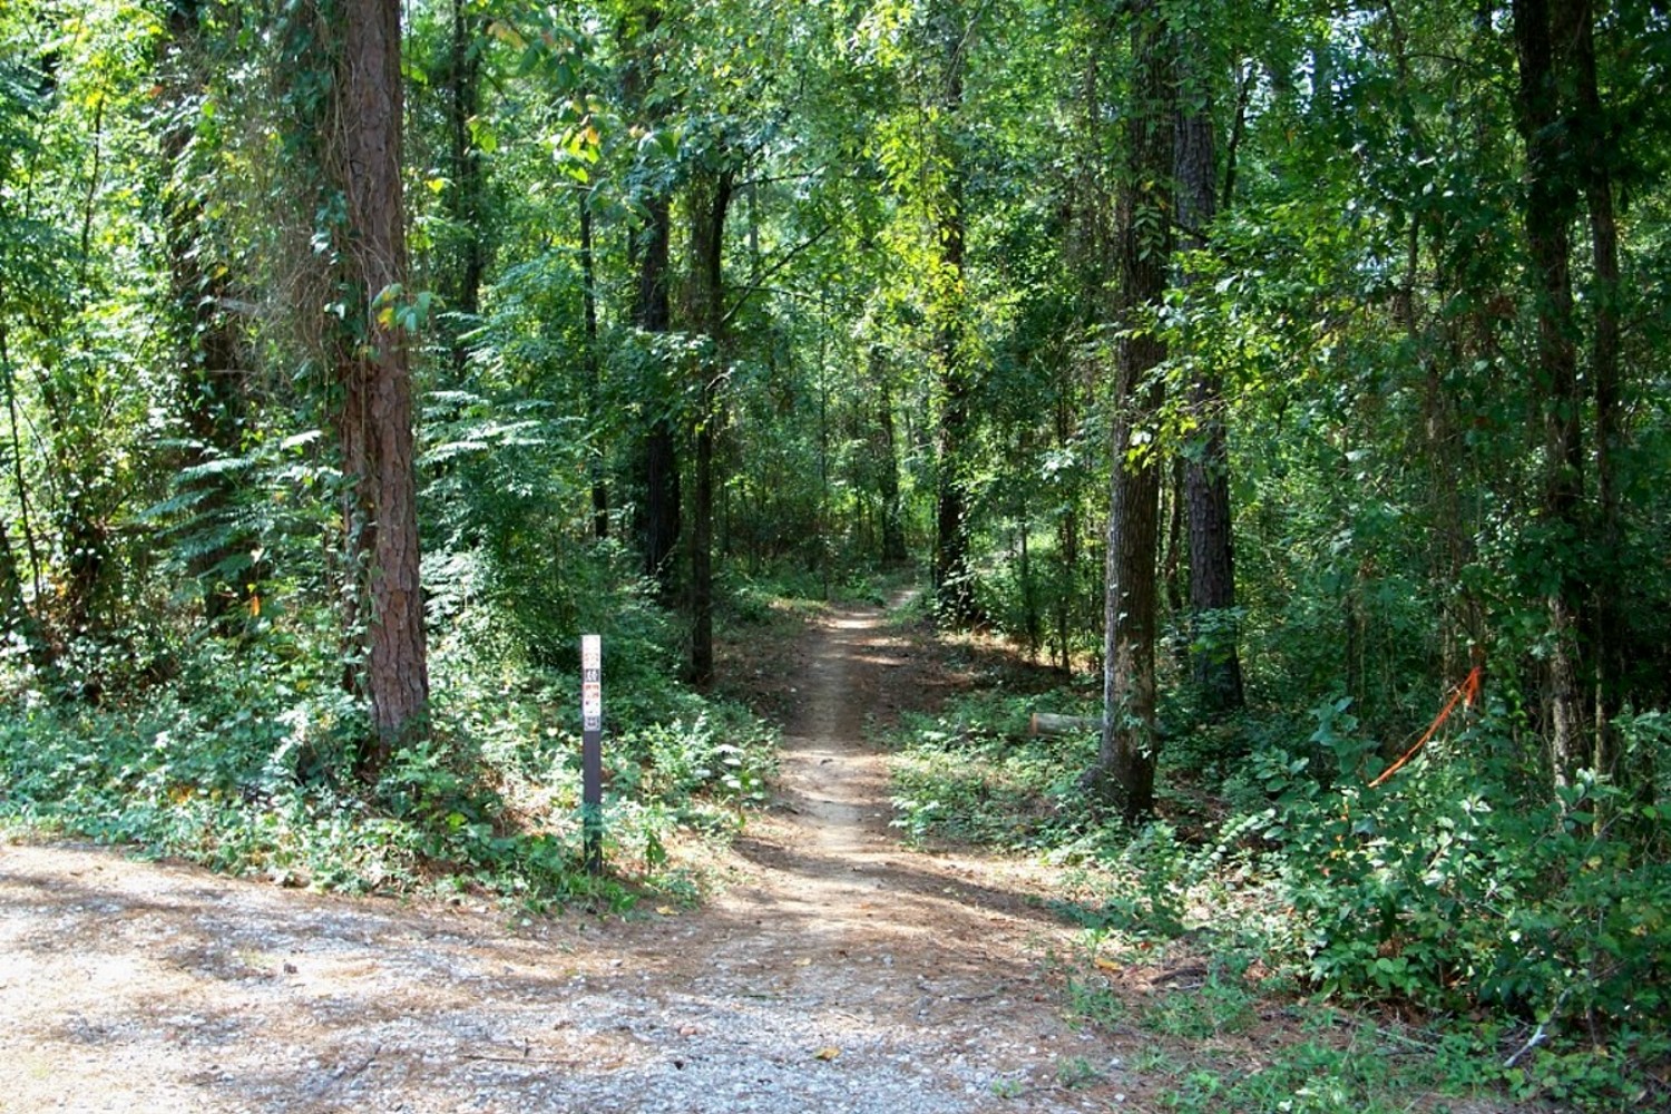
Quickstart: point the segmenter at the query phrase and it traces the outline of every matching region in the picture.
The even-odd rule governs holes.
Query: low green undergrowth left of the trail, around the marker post
[[[633,585],[600,585],[587,610],[568,618],[573,646],[535,655],[496,610],[438,593],[428,732],[371,787],[354,777],[364,711],[339,685],[329,613],[272,606],[237,638],[185,643],[167,680],[99,701],[40,691],[17,666],[0,705],[0,823],[333,890],[526,909],[693,897],[700,873],[673,833],[724,838],[739,823],[774,730],[677,680],[672,626]],[[605,635],[597,879],[580,868],[580,626]]]

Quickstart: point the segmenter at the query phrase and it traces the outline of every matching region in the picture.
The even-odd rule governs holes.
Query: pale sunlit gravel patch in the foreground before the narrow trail
[[[693,1094],[678,1106],[692,1114],[882,1111],[884,1081],[944,1059],[957,1010],[1034,975],[961,952],[956,932],[916,949],[929,962],[896,962],[886,940],[820,940],[810,914],[765,907],[516,930],[206,877],[112,850],[30,848],[25,865],[0,848],[0,1009],[32,1034],[0,1041],[0,1059],[43,1087],[65,1062],[165,1066],[117,1082],[109,1109],[660,1109],[622,1096],[665,1087]],[[784,950],[805,960],[770,962]],[[815,1059],[825,1046],[842,1059]],[[712,1086],[692,1092],[690,1076]],[[879,1097],[837,1104],[812,1086]],[[74,1109],[107,1109],[84,1094]]]

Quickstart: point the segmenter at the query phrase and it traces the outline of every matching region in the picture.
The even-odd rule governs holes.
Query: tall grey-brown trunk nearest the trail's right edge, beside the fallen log
[[[1126,167],[1120,185],[1120,341],[1103,636],[1103,740],[1093,788],[1130,823],[1155,808],[1155,598],[1160,461],[1135,434],[1163,403],[1150,372],[1166,357],[1145,317],[1166,294],[1171,257],[1173,40],[1156,0],[1131,5],[1136,65]],[[1136,451],[1135,451],[1136,449]]]

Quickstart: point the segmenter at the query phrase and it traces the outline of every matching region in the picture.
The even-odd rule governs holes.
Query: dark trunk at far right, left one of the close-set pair
[[[1584,456],[1579,416],[1577,351],[1572,342],[1571,225],[1577,185],[1571,137],[1561,127],[1554,40],[1571,33],[1574,0],[1514,0],[1514,45],[1521,63],[1519,125],[1526,140],[1526,239],[1537,282],[1536,396],[1544,424],[1542,518],[1551,538],[1547,706],[1549,758],[1556,785],[1566,785],[1582,760],[1584,698],[1579,631],[1582,591],[1571,548],[1581,538],[1579,501]],[[1556,27],[1551,27],[1551,15]]]

